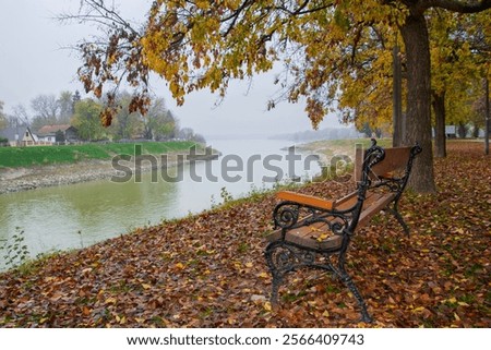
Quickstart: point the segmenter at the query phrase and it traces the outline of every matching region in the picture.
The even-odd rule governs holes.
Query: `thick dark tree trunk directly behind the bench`
[[[436,192],[433,174],[430,109],[430,47],[427,22],[422,13],[410,14],[402,26],[407,59],[407,117],[404,141],[416,142],[422,153],[416,158],[409,186],[418,193]]]

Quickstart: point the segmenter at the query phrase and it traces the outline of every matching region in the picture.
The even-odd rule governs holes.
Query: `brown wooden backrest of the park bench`
[[[406,167],[411,155],[412,147],[393,147],[384,148],[385,157],[380,162],[375,164],[371,168],[370,178],[376,176],[379,177],[391,177],[392,172],[406,170]],[[357,147],[355,154],[355,181],[361,181],[361,170],[363,165],[363,158],[367,149]]]

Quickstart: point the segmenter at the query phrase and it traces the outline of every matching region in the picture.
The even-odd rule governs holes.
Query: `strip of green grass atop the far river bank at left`
[[[142,154],[166,154],[187,150],[194,142],[110,143],[70,146],[0,147],[0,167],[31,167],[53,164],[72,164],[88,159],[110,159],[113,155],[134,155],[135,145]]]

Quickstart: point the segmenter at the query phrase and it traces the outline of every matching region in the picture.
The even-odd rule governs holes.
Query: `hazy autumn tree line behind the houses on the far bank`
[[[61,92],[55,95],[39,95],[31,100],[32,114],[23,105],[13,108],[11,116],[3,112],[0,101],[0,129],[28,125],[33,132],[44,125],[71,124],[76,128],[82,141],[125,141],[125,140],[185,140],[205,142],[191,128],[180,128],[178,118],[166,107],[164,98],[154,98],[145,116],[129,112],[132,96],[122,92],[116,97],[119,106],[110,126],[100,122],[100,112],[106,107],[104,99],[81,98],[80,93]],[[61,138],[60,138],[61,140]]]

